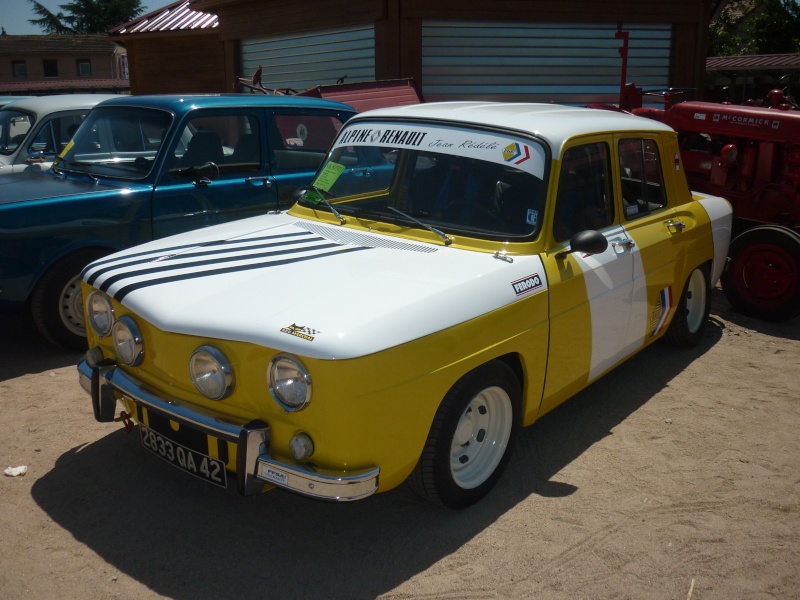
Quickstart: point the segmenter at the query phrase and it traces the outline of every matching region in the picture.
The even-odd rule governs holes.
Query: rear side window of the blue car
[[[277,173],[316,171],[342,125],[335,116],[274,115],[270,127],[273,170]]]

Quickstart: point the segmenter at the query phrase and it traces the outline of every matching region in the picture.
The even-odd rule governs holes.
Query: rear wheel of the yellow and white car
[[[694,269],[683,286],[675,316],[664,339],[679,348],[696,346],[703,337],[711,308],[711,277],[708,265]]]

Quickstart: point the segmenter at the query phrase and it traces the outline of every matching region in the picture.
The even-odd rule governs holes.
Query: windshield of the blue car
[[[171,122],[172,115],[161,110],[94,108],[54,166],[98,177],[144,179]]]

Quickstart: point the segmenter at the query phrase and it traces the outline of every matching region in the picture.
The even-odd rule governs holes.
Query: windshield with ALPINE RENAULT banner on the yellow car
[[[527,238],[541,226],[545,157],[535,139],[506,132],[360,121],[342,130],[301,202],[445,234]]]

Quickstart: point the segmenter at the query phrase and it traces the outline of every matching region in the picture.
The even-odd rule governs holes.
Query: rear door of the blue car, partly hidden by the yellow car
[[[275,108],[267,121],[272,177],[283,210],[294,204],[294,191],[311,183],[347,114],[303,108]],[[346,177],[370,177],[369,168],[352,168]]]

